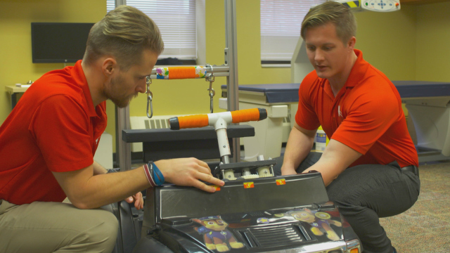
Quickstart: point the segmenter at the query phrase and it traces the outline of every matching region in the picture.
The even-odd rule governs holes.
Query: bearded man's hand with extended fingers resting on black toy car
[[[165,181],[178,186],[194,186],[200,190],[214,193],[216,188],[207,186],[202,181],[217,186],[224,186],[224,181],[214,178],[211,169],[206,162],[196,158],[179,158],[171,160],[159,160],[155,162],[160,169]]]

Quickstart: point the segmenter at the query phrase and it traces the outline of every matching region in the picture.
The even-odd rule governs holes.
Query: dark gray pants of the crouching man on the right
[[[297,173],[315,164],[321,153],[311,152],[297,168]],[[274,173],[281,175],[283,157],[277,157]],[[364,253],[392,253],[379,218],[405,212],[416,202],[419,177],[401,171],[397,162],[387,165],[365,164],[345,169],[327,186],[328,198],[339,207],[364,247]]]

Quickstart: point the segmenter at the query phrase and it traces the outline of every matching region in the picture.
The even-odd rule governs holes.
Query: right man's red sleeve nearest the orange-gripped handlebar
[[[302,128],[307,130],[318,129],[321,125],[319,117],[314,111],[313,101],[311,99],[311,86],[316,78],[310,73],[305,77],[298,89],[298,109],[295,114],[295,122]]]

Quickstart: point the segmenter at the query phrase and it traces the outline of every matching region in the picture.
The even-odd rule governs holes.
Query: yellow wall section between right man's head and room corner
[[[356,13],[356,48],[392,80],[416,79],[416,8],[404,5],[390,13]]]

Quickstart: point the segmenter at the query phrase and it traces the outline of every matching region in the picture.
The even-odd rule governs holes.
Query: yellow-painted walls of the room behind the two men
[[[392,80],[450,81],[450,4],[401,6],[394,13],[356,13],[356,48],[364,58]],[[206,60],[224,64],[224,1],[206,1]],[[30,22],[96,22],[105,15],[105,0],[0,0],[0,123],[10,109],[4,86],[35,80],[63,64],[32,63]],[[260,65],[259,0],[237,1],[239,84],[290,82],[289,68],[262,68]],[[300,31],[299,31],[300,32]],[[220,86],[214,82],[214,108],[219,110]],[[155,115],[183,115],[209,112],[208,83],[204,79],[153,80]],[[108,101],[108,127],[115,134],[113,103]],[[131,116],[146,115],[146,96],[130,104]]]

